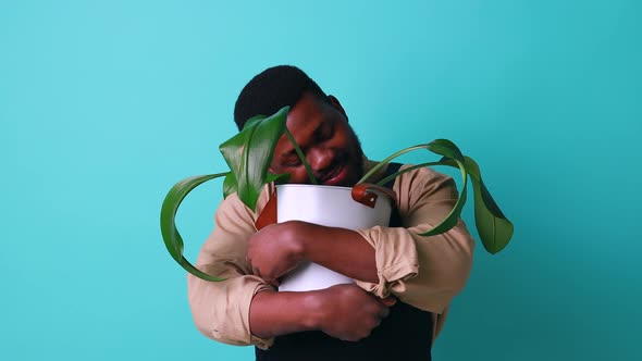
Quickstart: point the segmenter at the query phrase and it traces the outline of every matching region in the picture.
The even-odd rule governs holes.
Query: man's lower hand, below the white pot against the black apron
[[[396,299],[376,298],[356,285],[336,285],[319,291],[321,295],[318,327],[332,337],[358,341],[390,313]]]

